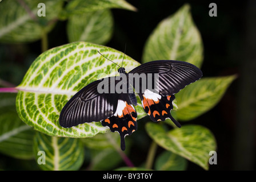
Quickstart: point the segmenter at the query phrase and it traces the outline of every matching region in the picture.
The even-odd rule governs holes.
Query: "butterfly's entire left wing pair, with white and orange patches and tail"
[[[102,126],[109,127],[110,131],[118,131],[121,148],[125,150],[125,136],[137,130],[137,113],[127,92],[117,94],[111,90],[120,81],[119,77],[108,77],[79,90],[61,110],[59,125],[73,127],[101,121]],[[99,92],[102,88],[104,92]]]

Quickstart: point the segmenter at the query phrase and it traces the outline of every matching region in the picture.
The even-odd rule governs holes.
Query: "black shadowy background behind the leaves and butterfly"
[[[138,11],[111,10],[114,16],[114,34],[106,46],[124,51],[126,44],[126,54],[137,61],[141,60],[145,42],[157,24],[174,14],[185,3],[190,4],[193,20],[203,40],[203,76],[236,74],[238,78],[227,89],[217,106],[189,123],[203,125],[215,135],[218,145],[218,164],[210,166],[210,170],[254,170],[256,168],[256,1],[127,0],[127,2],[137,7]],[[217,4],[217,17],[209,16],[211,2]],[[66,22],[59,21],[49,34],[49,48],[68,43],[65,29]],[[41,53],[41,42],[2,44],[0,48],[0,60],[5,60],[0,62],[0,78],[18,85],[32,61]],[[149,140],[145,143],[147,142]],[[158,147],[157,152],[161,150]],[[139,164],[141,158],[136,156],[138,151],[132,151],[131,160]],[[136,165],[136,162],[134,164]],[[188,169],[202,170],[201,167],[190,162]]]

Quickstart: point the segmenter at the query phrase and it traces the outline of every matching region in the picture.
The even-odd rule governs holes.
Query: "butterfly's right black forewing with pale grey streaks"
[[[145,73],[147,80],[149,80],[149,76],[152,76],[151,79],[153,78],[153,83],[156,81],[159,83],[157,92],[162,96],[171,96],[178,93],[179,90],[185,88],[186,85],[202,77],[202,71],[195,67],[195,65],[174,60],[150,61],[139,65],[129,73]],[[155,79],[154,74],[158,74],[159,80]],[[148,82],[140,82],[139,84],[148,84]],[[146,85],[146,88],[148,88],[148,85]],[[143,93],[144,91],[145,90],[142,90],[141,92]]]

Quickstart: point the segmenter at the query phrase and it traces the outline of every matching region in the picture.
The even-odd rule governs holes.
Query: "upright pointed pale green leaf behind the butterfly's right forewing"
[[[203,45],[201,35],[190,14],[190,6],[184,5],[162,20],[147,39],[142,61],[179,60],[201,67]]]

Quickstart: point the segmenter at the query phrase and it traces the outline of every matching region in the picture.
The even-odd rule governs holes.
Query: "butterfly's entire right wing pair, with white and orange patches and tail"
[[[150,115],[151,120],[157,122],[170,118],[176,126],[181,127],[170,114],[173,109],[174,94],[186,85],[199,80],[202,77],[202,71],[195,65],[183,61],[159,60],[142,64],[129,73],[138,75],[145,73],[147,81],[139,80],[140,90],[136,88],[135,90],[141,98],[143,109]],[[155,88],[149,85],[150,79],[158,82]]]

